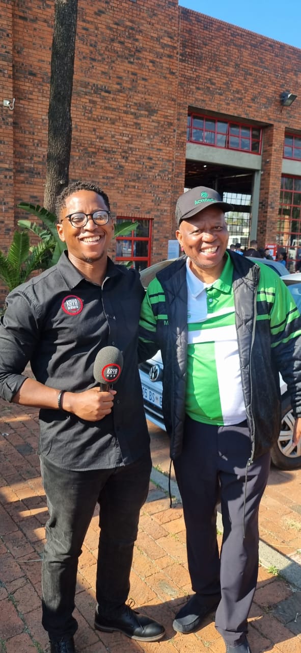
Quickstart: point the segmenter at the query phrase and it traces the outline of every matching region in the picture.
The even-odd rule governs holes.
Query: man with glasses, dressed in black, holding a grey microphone
[[[151,457],[137,368],[144,291],[135,270],[107,256],[109,199],[76,182],[57,199],[67,250],[57,265],[7,297],[0,325],[0,394],[40,408],[39,454],[50,518],[42,565],[42,624],[50,653],[74,653],[78,558],[100,505],[95,628],[157,641],[164,628],[126,605],[139,511]],[[115,390],[95,387],[102,347],[122,351]],[[27,362],[35,379],[23,374]]]

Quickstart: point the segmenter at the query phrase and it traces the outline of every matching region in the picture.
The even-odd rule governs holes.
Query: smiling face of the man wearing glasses
[[[106,268],[107,249],[113,237],[114,227],[111,219],[106,225],[95,225],[91,215],[85,227],[75,228],[66,215],[83,212],[93,214],[97,210],[107,210],[106,202],[94,191],[77,191],[66,198],[66,204],[61,210],[57,224],[59,238],[66,243],[68,257],[80,272],[87,276],[89,266]],[[89,276],[89,275],[88,275]]]

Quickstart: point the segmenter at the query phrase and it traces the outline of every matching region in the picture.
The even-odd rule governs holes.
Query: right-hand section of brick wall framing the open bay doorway
[[[281,107],[280,93],[300,88],[301,50],[180,7],[178,175],[189,107],[264,127],[258,240],[274,241],[285,128],[301,131],[301,97]],[[300,167],[301,176],[301,167]]]

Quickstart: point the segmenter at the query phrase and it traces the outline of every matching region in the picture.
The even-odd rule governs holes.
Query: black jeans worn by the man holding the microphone
[[[128,597],[151,458],[145,456],[112,470],[70,471],[41,457],[41,471],[50,512],[42,564],[42,624],[52,641],[60,641],[72,637],[78,628],[72,616],[78,558],[97,502],[101,528],[96,573],[99,609],[109,614]]]

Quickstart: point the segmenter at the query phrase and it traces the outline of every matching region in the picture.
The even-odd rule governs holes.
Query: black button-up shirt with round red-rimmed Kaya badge
[[[37,381],[81,392],[96,386],[102,347],[122,351],[122,374],[111,415],[97,422],[40,409],[39,453],[70,470],[109,469],[149,451],[137,367],[137,332],[144,296],[139,275],[107,259],[102,287],[87,281],[63,253],[59,263],[7,297],[0,324],[0,395],[10,402],[27,362]]]

